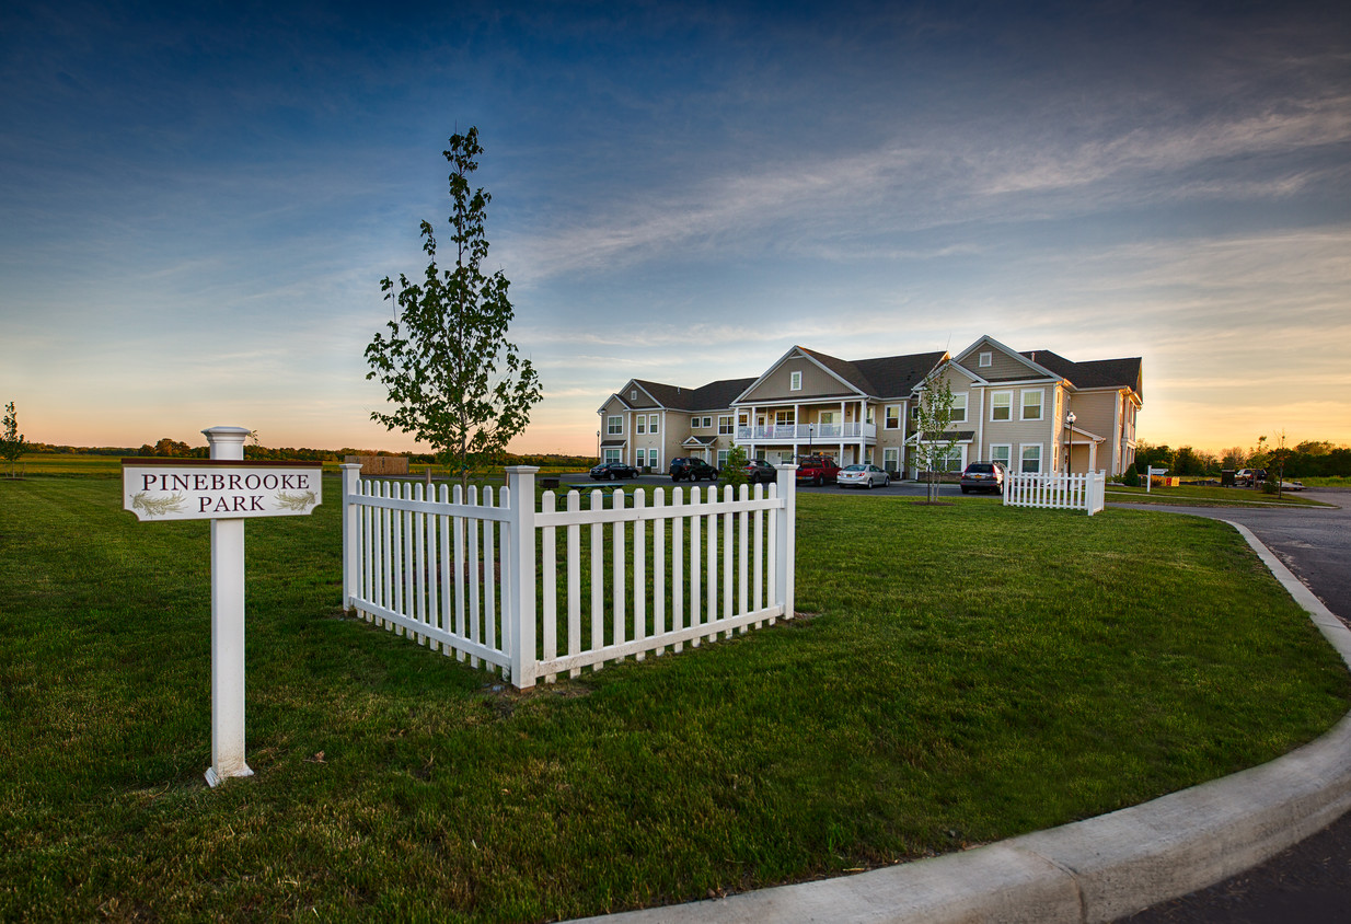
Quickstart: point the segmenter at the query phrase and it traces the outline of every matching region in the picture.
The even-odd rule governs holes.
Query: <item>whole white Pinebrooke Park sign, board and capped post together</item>
[[[211,767],[207,782],[251,777],[245,763],[245,519],[309,513],[317,462],[246,462],[243,427],[203,430],[211,459],[123,459],[123,508],[141,520],[211,520]]]

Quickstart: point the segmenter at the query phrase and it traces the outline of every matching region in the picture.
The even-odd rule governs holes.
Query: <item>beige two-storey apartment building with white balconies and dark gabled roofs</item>
[[[944,469],[998,459],[1021,471],[1119,474],[1135,459],[1139,357],[1073,362],[990,336],[957,355],[854,361],[794,346],[757,378],[694,389],[632,378],[597,412],[600,451],[661,471],[678,455],[720,466],[736,444],[771,463],[819,453],[913,477],[915,408],[939,378],[954,396]]]

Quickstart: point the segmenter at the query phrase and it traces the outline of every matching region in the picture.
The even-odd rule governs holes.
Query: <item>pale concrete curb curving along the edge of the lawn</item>
[[[1351,630],[1229,520],[1351,667]],[[1143,805],[859,875],[588,921],[1102,924],[1242,873],[1351,808],[1351,713],[1270,763]]]

